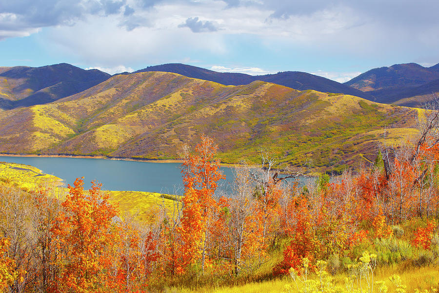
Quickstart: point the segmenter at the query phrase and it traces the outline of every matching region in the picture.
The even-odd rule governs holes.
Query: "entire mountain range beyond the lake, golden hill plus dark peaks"
[[[0,67],[0,153],[176,159],[206,134],[224,163],[256,163],[266,150],[289,167],[339,171],[373,160],[384,139],[399,144],[417,133],[419,110],[386,102],[419,104],[420,92],[428,100],[439,90],[437,65],[385,68],[339,84],[184,64],[114,76],[65,63]]]

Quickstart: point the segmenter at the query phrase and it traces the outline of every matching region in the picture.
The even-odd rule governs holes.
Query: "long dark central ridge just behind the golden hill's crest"
[[[299,71],[285,71],[279,72],[277,74],[253,76],[244,73],[216,72],[192,65],[169,63],[149,66],[144,69],[135,71],[134,73],[152,71],[173,72],[184,75],[186,77],[202,79],[224,85],[243,85],[250,84],[255,81],[262,81],[285,85],[298,90],[313,89],[320,92],[343,93],[346,95],[353,95],[368,100],[373,99],[371,95],[369,95],[368,93],[364,93],[358,89],[340,84],[324,77]]]

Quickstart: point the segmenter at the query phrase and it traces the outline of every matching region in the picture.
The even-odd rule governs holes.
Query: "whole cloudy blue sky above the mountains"
[[[185,63],[346,82],[439,63],[438,0],[0,0],[0,66]]]

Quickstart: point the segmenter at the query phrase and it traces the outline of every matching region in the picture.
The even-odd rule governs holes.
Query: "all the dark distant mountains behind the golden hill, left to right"
[[[407,63],[375,68],[344,84],[299,71],[252,76],[216,72],[180,63],[149,66],[122,75],[140,72],[172,72],[223,85],[263,81],[297,90],[342,93],[373,102],[412,107],[422,107],[432,100],[432,94],[439,92],[439,64],[423,67]],[[100,84],[110,77],[97,69],[84,70],[66,63],[42,67],[0,67],[0,108],[13,109],[50,103]]]

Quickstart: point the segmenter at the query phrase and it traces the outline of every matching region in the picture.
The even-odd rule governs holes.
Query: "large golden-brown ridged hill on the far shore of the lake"
[[[384,127],[387,142],[415,133],[410,127],[417,115],[260,81],[226,86],[143,72],[113,76],[53,103],[0,112],[0,152],[174,159],[183,144],[195,145],[206,134],[225,163],[257,162],[265,149],[290,166],[331,170],[367,161]]]

